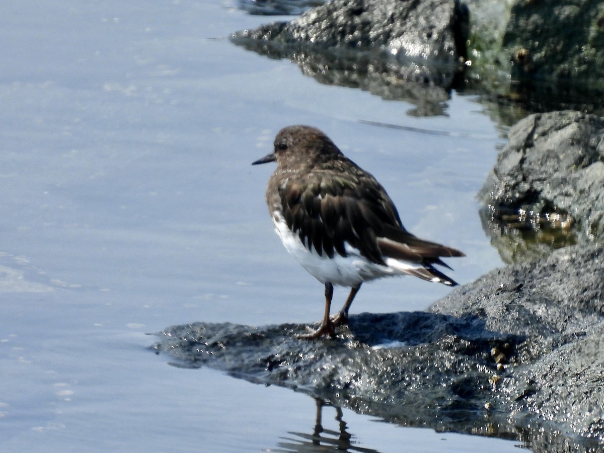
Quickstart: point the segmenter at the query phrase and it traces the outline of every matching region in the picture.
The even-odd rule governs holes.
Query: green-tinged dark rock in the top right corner
[[[601,1],[464,3],[471,14],[468,76],[473,82],[533,112],[602,111]]]

